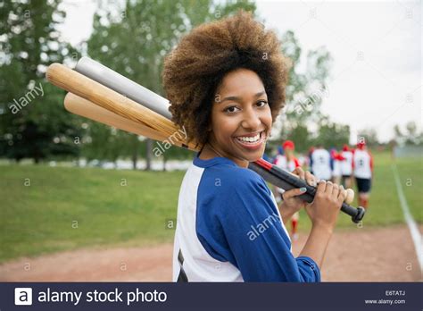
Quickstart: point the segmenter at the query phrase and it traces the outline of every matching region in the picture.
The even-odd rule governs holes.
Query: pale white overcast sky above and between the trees
[[[62,36],[72,44],[92,30],[94,1],[65,0]],[[322,110],[356,131],[390,139],[394,124],[422,123],[421,1],[258,1],[265,25],[293,29],[303,55],[326,46],[334,58]]]

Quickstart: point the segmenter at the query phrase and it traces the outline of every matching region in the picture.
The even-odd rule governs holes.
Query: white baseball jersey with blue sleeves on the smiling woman
[[[173,281],[319,282],[320,272],[310,257],[293,256],[260,175],[196,155],[179,192]]]

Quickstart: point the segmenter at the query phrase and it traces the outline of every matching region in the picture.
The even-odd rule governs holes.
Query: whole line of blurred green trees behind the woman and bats
[[[0,157],[17,162],[32,158],[117,161],[139,158],[149,167],[154,142],[67,113],[65,92],[46,82],[50,63],[73,66],[87,55],[154,92],[163,94],[161,72],[164,55],[195,26],[214,21],[239,9],[253,12],[253,1],[138,0],[99,2],[90,38],[77,46],[64,42],[58,30],[66,14],[61,0],[6,1],[0,10]],[[263,21],[264,22],[264,21]],[[291,30],[280,35],[282,49],[291,61],[287,107],[275,124],[270,147],[293,139],[298,149],[322,143],[339,147],[350,129],[330,121],[320,112],[328,97],[333,58],[325,46],[307,52],[307,67],[299,71],[302,47]],[[315,125],[314,131],[310,124]],[[316,134],[317,133],[317,134]],[[187,150],[171,147],[161,156],[188,158]]]

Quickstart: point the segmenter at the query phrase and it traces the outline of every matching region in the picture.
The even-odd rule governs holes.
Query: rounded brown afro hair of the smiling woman
[[[207,141],[216,89],[225,74],[237,68],[261,78],[275,121],[285,105],[288,62],[277,35],[251,13],[241,11],[198,26],[166,56],[163,87],[172,120],[187,130],[188,140],[199,145]]]

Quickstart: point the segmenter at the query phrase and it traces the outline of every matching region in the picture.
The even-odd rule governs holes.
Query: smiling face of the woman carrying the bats
[[[246,167],[263,155],[271,125],[268,97],[259,76],[247,69],[228,72],[211,109],[212,147]]]

